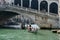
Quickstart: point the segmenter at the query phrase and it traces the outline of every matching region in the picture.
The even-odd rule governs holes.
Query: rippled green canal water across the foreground
[[[39,30],[37,34],[27,30],[0,29],[0,40],[59,40],[57,34],[48,30]]]

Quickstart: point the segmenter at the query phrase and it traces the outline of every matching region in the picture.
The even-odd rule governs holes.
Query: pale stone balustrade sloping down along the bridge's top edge
[[[0,8],[3,9],[7,9],[7,8],[13,8],[13,9],[17,9],[17,10],[23,10],[23,11],[27,11],[27,12],[31,12],[31,13],[35,13],[35,14],[39,14],[39,15],[47,15],[50,16],[51,18],[58,18],[58,14],[54,14],[54,13],[47,13],[47,12],[41,12],[35,9],[31,9],[31,8],[25,8],[25,7],[20,7],[20,6],[16,6],[16,5],[0,5]]]

